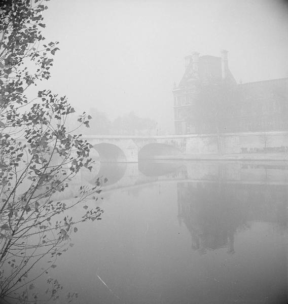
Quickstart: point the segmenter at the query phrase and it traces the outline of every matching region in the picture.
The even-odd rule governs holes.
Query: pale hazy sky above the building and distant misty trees
[[[288,76],[281,0],[51,0],[47,40],[59,41],[45,87],[111,119],[131,110],[173,132],[171,90],[192,51],[229,51],[237,82]]]

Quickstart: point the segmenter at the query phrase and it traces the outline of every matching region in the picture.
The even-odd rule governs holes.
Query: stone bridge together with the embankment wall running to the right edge
[[[161,136],[86,135],[102,162],[138,162],[165,156],[278,153],[288,150],[288,132]],[[221,149],[221,151],[219,151]]]

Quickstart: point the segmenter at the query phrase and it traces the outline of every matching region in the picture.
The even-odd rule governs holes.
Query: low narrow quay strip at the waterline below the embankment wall
[[[206,161],[288,161],[286,153],[247,153],[247,154],[195,154],[155,156],[155,160],[206,160]]]

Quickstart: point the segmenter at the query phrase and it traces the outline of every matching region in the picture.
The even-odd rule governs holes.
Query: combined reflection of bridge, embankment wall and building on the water
[[[177,181],[179,223],[191,234],[201,254],[227,247],[235,253],[234,237],[251,221],[287,227],[288,166],[285,163],[153,162],[101,163],[89,182],[105,176],[104,188]],[[138,196],[139,188],[128,195]],[[160,190],[159,190],[160,191]]]

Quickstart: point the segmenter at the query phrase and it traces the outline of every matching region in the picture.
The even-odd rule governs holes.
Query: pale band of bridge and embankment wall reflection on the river
[[[140,161],[139,163],[96,162],[92,172],[81,171],[79,183],[93,183],[97,177],[108,179],[106,189],[124,188],[155,181],[202,181],[230,184],[288,185],[285,163],[241,163],[209,161]]]

